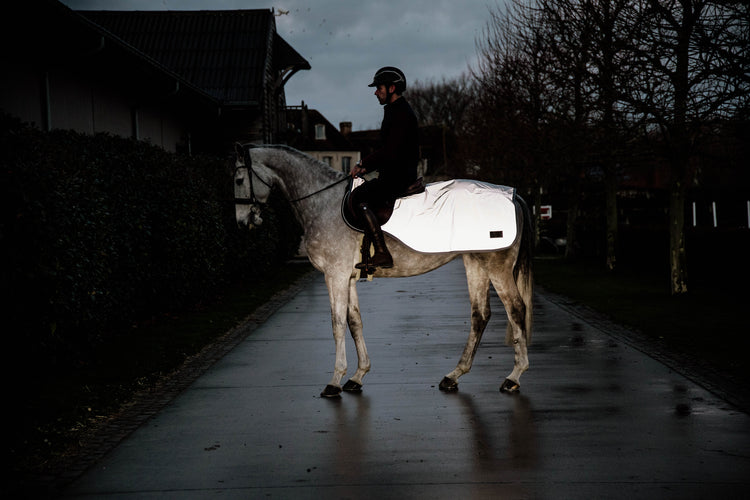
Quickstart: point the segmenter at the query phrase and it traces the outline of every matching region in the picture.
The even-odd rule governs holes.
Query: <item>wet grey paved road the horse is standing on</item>
[[[505,314],[457,393],[437,389],[468,331],[460,261],[360,283],[373,369],[333,368],[317,275],[67,490],[67,498],[746,498],[750,416],[537,294],[521,394]],[[356,363],[349,342],[350,366]],[[350,369],[350,372],[353,370]]]

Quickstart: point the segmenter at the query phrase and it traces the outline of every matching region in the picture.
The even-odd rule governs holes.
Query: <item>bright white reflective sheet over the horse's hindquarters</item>
[[[516,239],[515,190],[454,179],[399,198],[383,231],[423,253],[500,250]]]

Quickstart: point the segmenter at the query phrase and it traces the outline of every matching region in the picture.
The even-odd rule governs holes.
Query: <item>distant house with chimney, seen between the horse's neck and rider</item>
[[[361,158],[356,146],[349,141],[351,122],[336,128],[320,112],[309,109],[304,102],[286,109],[286,143],[313,158],[328,163],[341,172],[349,173]]]

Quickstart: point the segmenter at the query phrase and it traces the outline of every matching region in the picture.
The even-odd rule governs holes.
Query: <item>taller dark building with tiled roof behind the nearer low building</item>
[[[273,10],[80,13],[217,99],[219,137],[279,142],[284,85],[310,64],[276,32]]]

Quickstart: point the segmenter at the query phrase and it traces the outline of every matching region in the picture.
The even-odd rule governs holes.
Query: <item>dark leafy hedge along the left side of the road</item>
[[[291,211],[272,197],[265,223],[241,231],[229,164],[1,115],[6,340],[44,362],[75,359],[285,261],[299,244]]]

